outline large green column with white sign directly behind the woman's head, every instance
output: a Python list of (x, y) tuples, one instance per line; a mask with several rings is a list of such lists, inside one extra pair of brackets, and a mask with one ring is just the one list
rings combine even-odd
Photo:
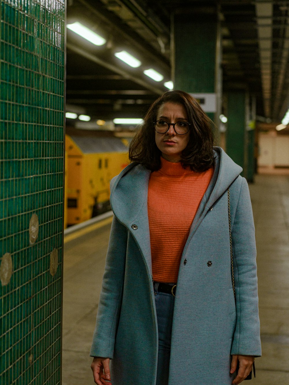
[[(217, 7), (175, 10), (172, 23), (174, 89), (195, 95), (218, 126), (222, 94)], [(212, 107), (213, 105), (213, 107)]]

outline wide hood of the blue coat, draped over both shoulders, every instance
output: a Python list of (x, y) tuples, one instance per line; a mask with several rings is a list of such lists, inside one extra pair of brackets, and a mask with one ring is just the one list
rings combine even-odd
[[(215, 170), (205, 193), (203, 204), (212, 206), (242, 172), (221, 147), (214, 147)], [(111, 180), (111, 208), (126, 226), (147, 213), (148, 181), (151, 171), (133, 162)]]

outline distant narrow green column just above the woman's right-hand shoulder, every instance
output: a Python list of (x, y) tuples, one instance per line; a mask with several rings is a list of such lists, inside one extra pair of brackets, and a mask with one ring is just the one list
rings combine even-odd
[(245, 157), (245, 91), (229, 91), (227, 93), (227, 132), (226, 152), (239, 166), (243, 167), (242, 175), (246, 175)]

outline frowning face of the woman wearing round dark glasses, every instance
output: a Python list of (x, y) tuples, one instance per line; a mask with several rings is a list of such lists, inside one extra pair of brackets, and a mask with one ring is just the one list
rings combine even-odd
[[(167, 123), (188, 122), (185, 107), (182, 104), (166, 102), (158, 110), (156, 120)], [(176, 134), (170, 126), (165, 134), (155, 131), (156, 146), (161, 151), (161, 156), (169, 162), (180, 162), (181, 152), (187, 147), (189, 132), (185, 135)]]

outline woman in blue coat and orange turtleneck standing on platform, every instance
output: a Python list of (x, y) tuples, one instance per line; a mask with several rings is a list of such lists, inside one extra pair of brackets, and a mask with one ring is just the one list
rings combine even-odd
[(151, 105), (129, 156), (134, 162), (111, 181), (94, 382), (239, 384), (261, 355), (254, 223), (242, 168), (213, 147), (212, 122), (182, 91)]

